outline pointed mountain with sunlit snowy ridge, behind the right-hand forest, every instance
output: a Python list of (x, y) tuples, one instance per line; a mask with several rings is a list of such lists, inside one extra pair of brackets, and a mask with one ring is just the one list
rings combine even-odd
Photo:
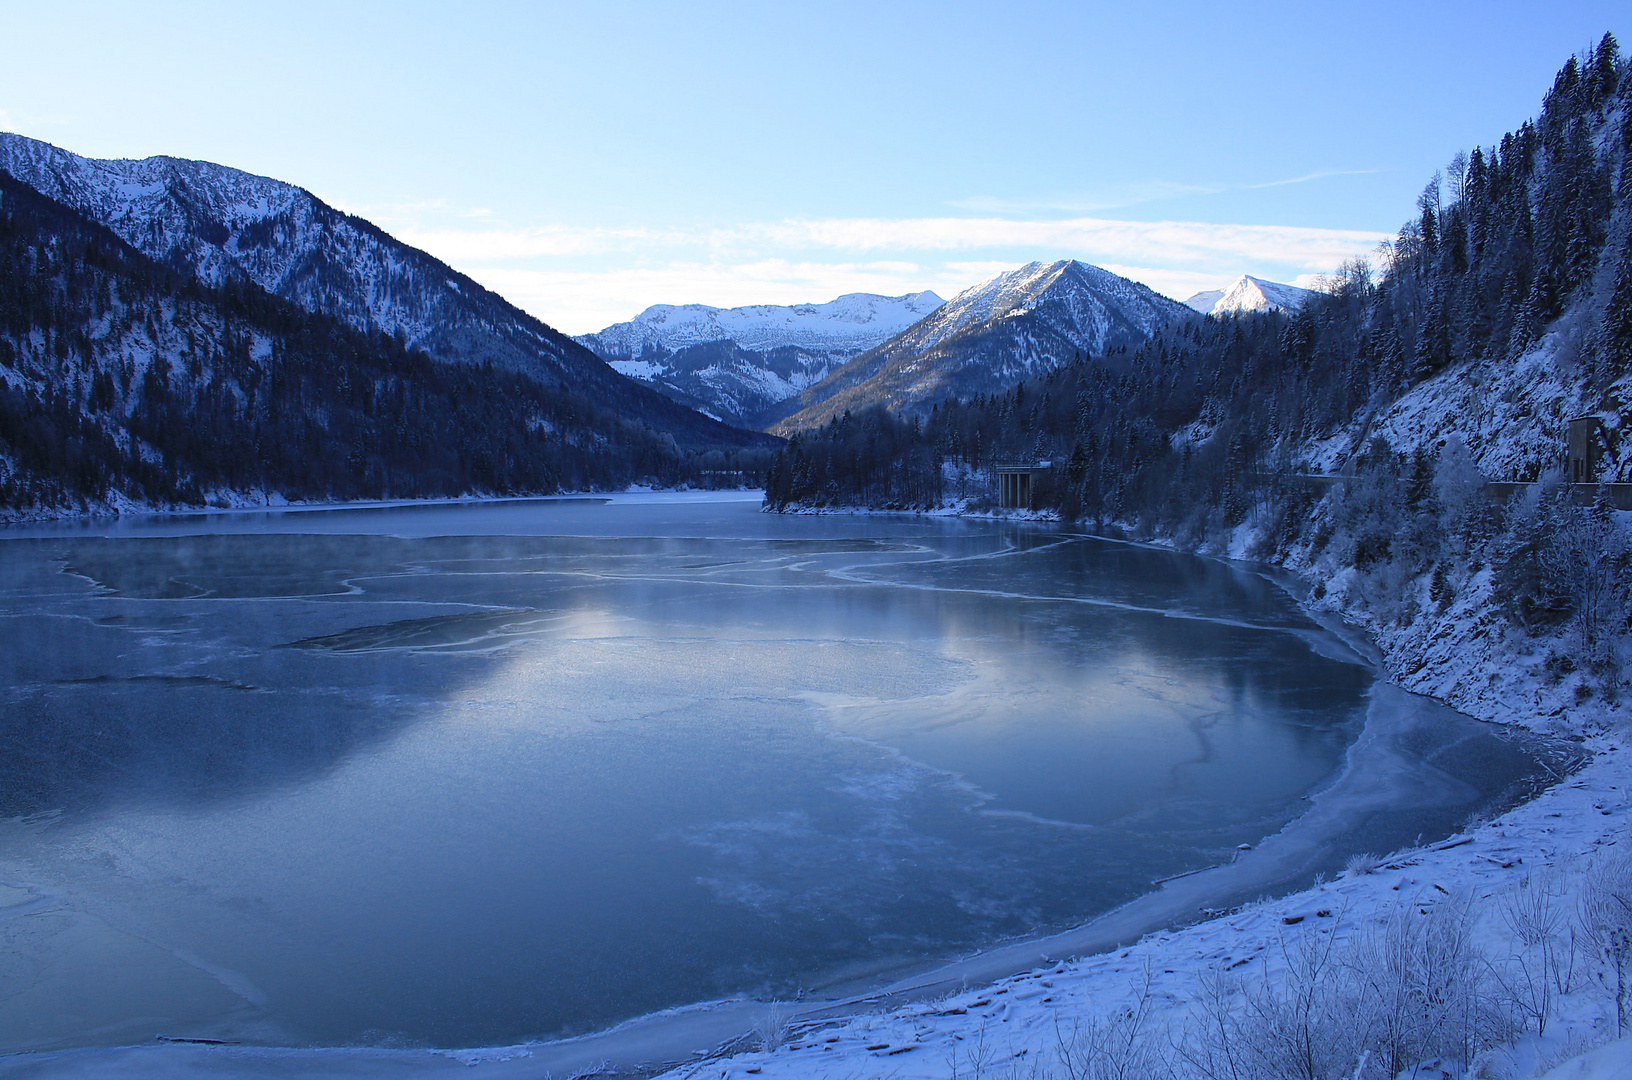
[(778, 432), (885, 405), (1012, 388), (1079, 356), (1138, 344), (1190, 308), (1087, 263), (1028, 263), (965, 289), (927, 318), (783, 403)]

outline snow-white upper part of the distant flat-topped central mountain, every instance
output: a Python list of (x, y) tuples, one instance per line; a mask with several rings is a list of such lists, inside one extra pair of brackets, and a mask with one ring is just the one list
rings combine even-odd
[(744, 349), (865, 352), (942, 305), (934, 292), (881, 297), (850, 292), (827, 303), (756, 303), (718, 308), (707, 303), (654, 303), (633, 320), (578, 338), (602, 357), (636, 357), (650, 346), (666, 351), (705, 341), (734, 341)]

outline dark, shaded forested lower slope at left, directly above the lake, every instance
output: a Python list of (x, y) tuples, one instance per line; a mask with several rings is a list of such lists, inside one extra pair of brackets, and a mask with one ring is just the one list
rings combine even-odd
[(442, 364), (147, 258), (0, 171), (0, 512), (672, 483), (692, 458), (558, 380)]

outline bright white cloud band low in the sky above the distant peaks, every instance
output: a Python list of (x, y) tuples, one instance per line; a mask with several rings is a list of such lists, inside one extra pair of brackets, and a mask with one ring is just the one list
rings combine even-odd
[(1306, 284), (1386, 233), (1291, 225), (1010, 217), (787, 219), (725, 227), (397, 230), (570, 333), (653, 303), (824, 302), (845, 292), (942, 297), (1033, 259), (1077, 258), (1173, 299), (1242, 272)]

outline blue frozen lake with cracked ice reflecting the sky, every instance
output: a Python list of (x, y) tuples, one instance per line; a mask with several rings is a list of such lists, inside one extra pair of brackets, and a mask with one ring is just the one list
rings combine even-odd
[[(1309, 806), (1374, 672), (1276, 587), (757, 494), (0, 532), (0, 1052), (485, 1046), (1059, 930)], [(1449, 832), (1528, 757), (1449, 710)]]

